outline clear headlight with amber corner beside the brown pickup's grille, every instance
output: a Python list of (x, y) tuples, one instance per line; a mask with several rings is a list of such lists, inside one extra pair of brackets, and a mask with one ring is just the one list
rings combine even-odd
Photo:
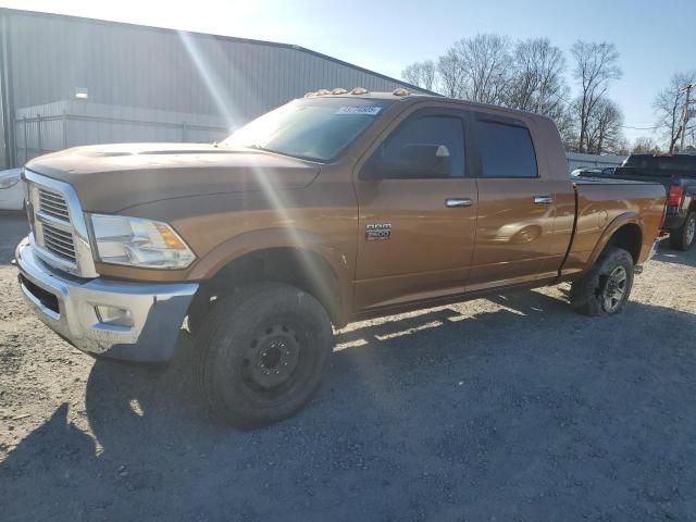
[(98, 261), (151, 269), (185, 269), (196, 256), (166, 223), (88, 214)]

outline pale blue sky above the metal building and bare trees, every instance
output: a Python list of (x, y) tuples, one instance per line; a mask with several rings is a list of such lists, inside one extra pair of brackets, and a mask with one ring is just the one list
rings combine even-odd
[[(547, 37), (566, 53), (573, 92), (572, 44), (609, 41), (623, 70), (609, 95), (626, 127), (652, 127), (657, 92), (673, 73), (696, 69), (693, 0), (0, 0), (0, 7), (295, 44), (394, 77), (477, 33)], [(630, 140), (657, 138), (650, 129), (624, 132)]]

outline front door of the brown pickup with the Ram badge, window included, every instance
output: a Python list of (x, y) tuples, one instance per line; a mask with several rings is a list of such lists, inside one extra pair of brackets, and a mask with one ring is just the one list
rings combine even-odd
[(358, 311), (463, 294), (473, 253), (463, 113), (412, 111), (385, 136), (356, 178)]

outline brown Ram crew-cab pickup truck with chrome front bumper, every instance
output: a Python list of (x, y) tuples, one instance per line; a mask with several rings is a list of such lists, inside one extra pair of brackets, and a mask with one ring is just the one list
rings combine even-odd
[(298, 411), (332, 324), (571, 281), (619, 312), (654, 251), (659, 184), (571, 181), (554, 123), (355, 89), (291, 101), (214, 145), (80, 147), (24, 171), (18, 281), (77, 348), (166, 361), (183, 326), (211, 413)]

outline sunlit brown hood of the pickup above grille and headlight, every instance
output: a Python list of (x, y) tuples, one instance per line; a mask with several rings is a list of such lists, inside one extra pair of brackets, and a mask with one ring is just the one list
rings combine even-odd
[(87, 212), (207, 194), (299, 189), (320, 171), (309, 161), (204, 144), (76, 147), (32, 160), (26, 169), (72, 185)]

